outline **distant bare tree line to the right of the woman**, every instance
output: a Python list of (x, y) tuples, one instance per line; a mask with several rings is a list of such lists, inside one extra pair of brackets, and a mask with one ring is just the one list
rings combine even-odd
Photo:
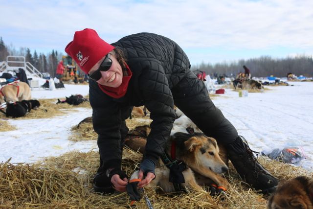
[(241, 59), (231, 63), (201, 63), (191, 66), (191, 70), (201, 70), (209, 75), (236, 76), (239, 72), (245, 72), (243, 66), (250, 69), (251, 76), (267, 77), (274, 75), (277, 77), (286, 77), (287, 73), (292, 72), (295, 75), (313, 76), (312, 56), (299, 55), (296, 57), (287, 57), (282, 59), (273, 59), (270, 56), (262, 56), (244, 60)]

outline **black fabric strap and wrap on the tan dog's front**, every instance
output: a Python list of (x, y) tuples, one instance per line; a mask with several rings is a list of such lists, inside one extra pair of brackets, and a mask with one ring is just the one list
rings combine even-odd
[(185, 192), (186, 189), (183, 186), (181, 186), (181, 184), (185, 183), (182, 171), (184, 171), (187, 168), (187, 165), (182, 161), (176, 160), (175, 155), (176, 155), (176, 143), (175, 141), (173, 141), (171, 144), (171, 156), (169, 156), (167, 152), (164, 151), (161, 156), (161, 160), (166, 165), (166, 167), (170, 169), (169, 182), (173, 183), (176, 192)]

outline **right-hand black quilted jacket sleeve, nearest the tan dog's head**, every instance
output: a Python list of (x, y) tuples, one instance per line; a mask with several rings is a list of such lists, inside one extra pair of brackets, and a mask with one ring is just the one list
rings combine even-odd
[(150, 111), (151, 132), (147, 139), (145, 158), (157, 159), (164, 152), (166, 140), (175, 120), (174, 100), (163, 67), (157, 60), (141, 62), (140, 86), (144, 104)]

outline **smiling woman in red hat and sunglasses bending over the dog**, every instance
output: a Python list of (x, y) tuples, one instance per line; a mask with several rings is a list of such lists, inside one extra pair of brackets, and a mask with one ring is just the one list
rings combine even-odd
[(89, 74), (92, 122), (98, 134), (100, 167), (94, 177), (99, 192), (125, 191), (122, 149), (128, 133), (125, 119), (133, 106), (151, 112), (151, 133), (140, 164), (138, 187), (154, 178), (175, 120), (174, 104), (207, 136), (224, 144), (229, 158), (248, 184), (263, 192), (278, 184), (254, 158), (243, 138), (209, 98), (204, 83), (190, 71), (184, 51), (172, 40), (152, 34), (126, 36), (112, 45), (96, 31), (76, 31), (65, 51)]

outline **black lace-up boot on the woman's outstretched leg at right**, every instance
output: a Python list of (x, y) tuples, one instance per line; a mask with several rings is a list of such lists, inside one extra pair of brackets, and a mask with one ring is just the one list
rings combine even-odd
[(256, 190), (263, 193), (275, 191), (278, 181), (260, 163), (257, 162), (246, 139), (239, 136), (226, 145), (227, 154), (240, 177)]

